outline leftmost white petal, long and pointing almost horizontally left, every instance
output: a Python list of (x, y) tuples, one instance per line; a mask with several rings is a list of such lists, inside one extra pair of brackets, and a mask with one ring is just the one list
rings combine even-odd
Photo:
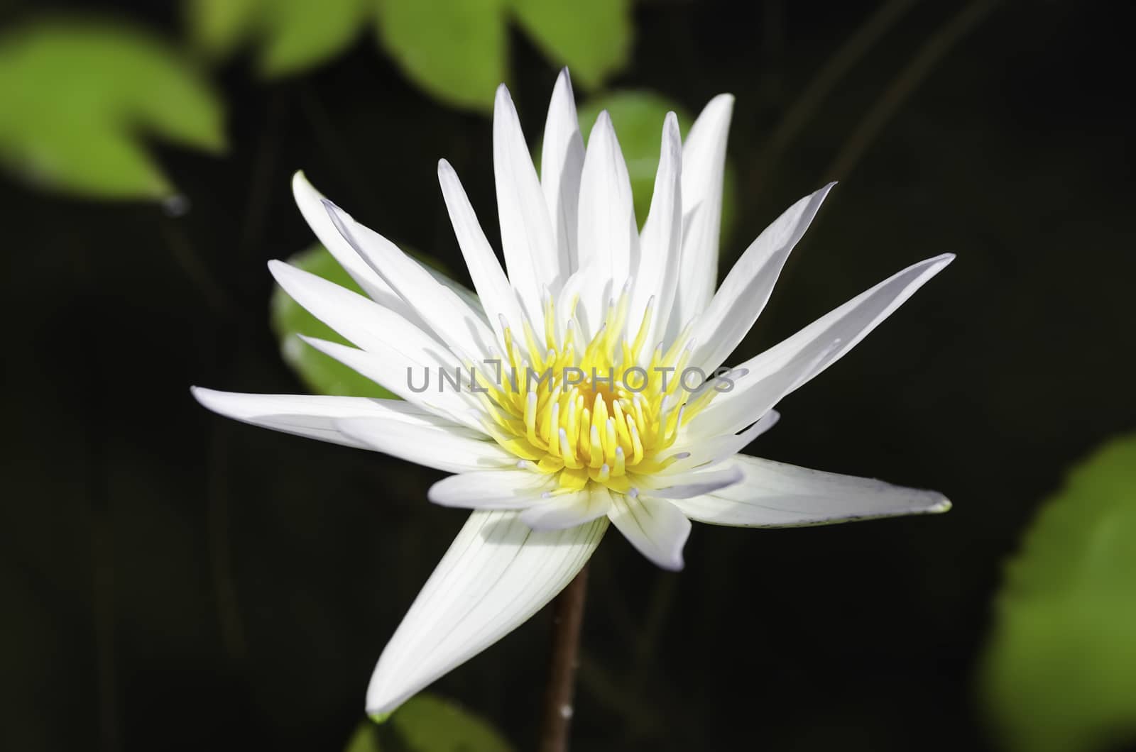
[(438, 418), (403, 400), (310, 394), (240, 394), (200, 386), (194, 386), (190, 391), (198, 402), (218, 415), (345, 446), (366, 448), (364, 443), (346, 436), (335, 427), (335, 420), (339, 418), (369, 417), (400, 420), (442, 431), (466, 431), (456, 423)]

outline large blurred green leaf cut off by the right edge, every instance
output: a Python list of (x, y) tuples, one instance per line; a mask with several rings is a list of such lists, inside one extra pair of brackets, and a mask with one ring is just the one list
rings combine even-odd
[(1027, 532), (996, 607), (984, 688), (1010, 749), (1136, 740), (1136, 436), (1072, 469)]

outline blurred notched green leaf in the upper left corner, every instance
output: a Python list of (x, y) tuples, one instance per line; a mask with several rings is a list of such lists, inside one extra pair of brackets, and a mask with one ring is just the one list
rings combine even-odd
[(0, 162), (35, 184), (108, 199), (174, 192), (142, 145), (154, 134), (225, 148), (223, 106), (159, 39), (44, 20), (0, 37)]

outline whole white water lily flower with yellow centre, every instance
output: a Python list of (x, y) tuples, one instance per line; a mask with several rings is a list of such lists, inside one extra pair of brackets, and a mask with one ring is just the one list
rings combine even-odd
[[(680, 569), (692, 519), (782, 527), (950, 508), (938, 493), (738, 453), (772, 426), (783, 396), (952, 257), (916, 264), (721, 369), (832, 187), (790, 207), (716, 291), (732, 108), (728, 94), (711, 100), (685, 143), (667, 116), (640, 231), (608, 115), (585, 149), (563, 72), (537, 176), (502, 85), (493, 165), (508, 273), (453, 168), (438, 165), (476, 296), (295, 176), (300, 211), (367, 296), (279, 261), (269, 268), (356, 345), (306, 339), (311, 346), (402, 400), (195, 388), (197, 399), (237, 420), (453, 473), (431, 488), (431, 501), (475, 510), (383, 651), (369, 712), (393, 710), (533, 616), (609, 524), (660, 567)], [(717, 377), (703, 383), (700, 374)]]

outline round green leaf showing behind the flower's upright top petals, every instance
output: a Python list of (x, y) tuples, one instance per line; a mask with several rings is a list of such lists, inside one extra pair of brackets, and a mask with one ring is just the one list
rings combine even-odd
[[(667, 112), (678, 116), (678, 128), (686, 137), (694, 118), (680, 106), (650, 91), (616, 91), (590, 99), (579, 107), (579, 127), (585, 139), (595, 125), (600, 112), (608, 110), (619, 136), (619, 148), (627, 161), (635, 199), (635, 217), (640, 225), (646, 220), (654, 193), (654, 174), (659, 169), (659, 147), (662, 141), (662, 122)], [(734, 170), (726, 162), (722, 191), (721, 237), (725, 242), (734, 224)]]

